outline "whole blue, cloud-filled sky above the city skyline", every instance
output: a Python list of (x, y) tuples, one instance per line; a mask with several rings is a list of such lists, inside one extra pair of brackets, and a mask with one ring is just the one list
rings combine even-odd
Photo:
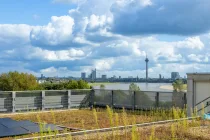
[(210, 72), (209, 0), (1, 0), (0, 73)]

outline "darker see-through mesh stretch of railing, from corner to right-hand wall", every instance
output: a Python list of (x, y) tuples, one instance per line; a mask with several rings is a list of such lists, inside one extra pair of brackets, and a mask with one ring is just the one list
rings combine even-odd
[(184, 108), (186, 93), (162, 91), (94, 90), (94, 106), (128, 109)]

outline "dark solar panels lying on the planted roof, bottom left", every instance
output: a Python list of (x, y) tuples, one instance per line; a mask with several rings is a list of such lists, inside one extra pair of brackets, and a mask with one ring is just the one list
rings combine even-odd
[(0, 137), (24, 135), (40, 131), (47, 132), (49, 130), (63, 130), (63, 128), (53, 124), (45, 124), (42, 126), (42, 130), (40, 130), (39, 124), (33, 123), (31, 121), (15, 121), (10, 118), (0, 118)]

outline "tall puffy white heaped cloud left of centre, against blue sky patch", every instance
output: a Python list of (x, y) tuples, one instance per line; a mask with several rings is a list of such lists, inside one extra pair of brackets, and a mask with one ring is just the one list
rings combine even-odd
[(74, 19), (70, 16), (52, 16), (46, 26), (31, 31), (31, 41), (40, 45), (65, 44), (72, 38)]

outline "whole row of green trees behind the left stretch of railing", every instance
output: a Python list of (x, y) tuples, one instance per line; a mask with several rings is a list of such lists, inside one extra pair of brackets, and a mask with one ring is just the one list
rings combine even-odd
[(90, 89), (91, 87), (83, 80), (69, 80), (66, 82), (45, 82), (39, 84), (37, 78), (28, 73), (17, 71), (2, 73), (0, 75), (0, 90), (2, 91), (25, 91), (25, 90), (64, 90), (64, 89)]

